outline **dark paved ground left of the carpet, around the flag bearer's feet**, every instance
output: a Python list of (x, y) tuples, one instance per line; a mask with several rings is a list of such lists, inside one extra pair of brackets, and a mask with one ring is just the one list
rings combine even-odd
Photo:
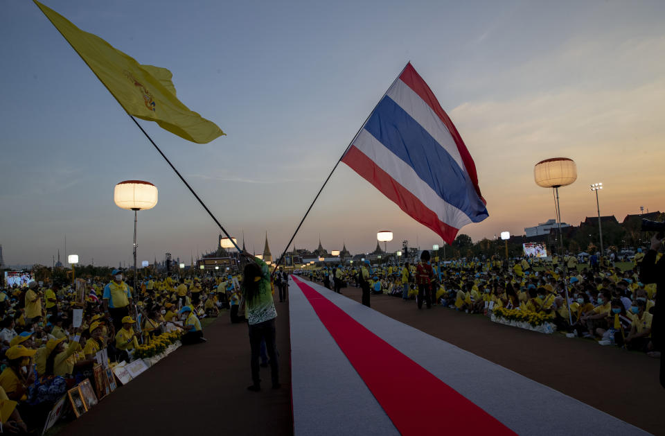
[[(281, 390), (247, 391), (247, 325), (222, 313), (206, 344), (180, 347), (60, 435), (292, 435), (289, 312), (276, 307)], [(270, 369), (261, 372), (269, 387)]]

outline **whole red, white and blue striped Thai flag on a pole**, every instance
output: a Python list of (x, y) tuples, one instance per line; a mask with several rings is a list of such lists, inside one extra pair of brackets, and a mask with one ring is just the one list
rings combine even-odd
[(448, 244), (489, 216), (464, 141), (410, 62), (342, 162)]

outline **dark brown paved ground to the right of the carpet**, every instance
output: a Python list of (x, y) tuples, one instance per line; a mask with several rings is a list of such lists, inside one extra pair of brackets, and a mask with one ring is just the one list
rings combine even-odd
[[(359, 288), (342, 293), (360, 302)], [(657, 359), (590, 340), (543, 335), (413, 300), (373, 295), (384, 315), (470, 351), (655, 435), (665, 435), (665, 390)], [(561, 417), (561, 419), (566, 419)]]

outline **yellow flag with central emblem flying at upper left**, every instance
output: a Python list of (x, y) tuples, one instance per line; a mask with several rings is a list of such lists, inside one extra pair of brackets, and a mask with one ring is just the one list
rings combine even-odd
[(127, 114), (154, 121), (197, 143), (208, 143), (224, 134), (215, 123), (189, 110), (176, 98), (168, 69), (139, 64), (100, 37), (74, 26), (55, 10), (34, 1)]

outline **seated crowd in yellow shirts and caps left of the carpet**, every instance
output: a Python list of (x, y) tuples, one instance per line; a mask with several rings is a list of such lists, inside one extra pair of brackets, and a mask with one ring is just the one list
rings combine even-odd
[(183, 345), (205, 342), (200, 319), (218, 316), (237, 285), (231, 276), (148, 277), (134, 290), (114, 270), (109, 281), (89, 279), (83, 295), (36, 281), (1, 290), (0, 400), (16, 402), (5, 428), (41, 430), (53, 402), (91, 378), (101, 356), (112, 368), (130, 363), (165, 332)]

